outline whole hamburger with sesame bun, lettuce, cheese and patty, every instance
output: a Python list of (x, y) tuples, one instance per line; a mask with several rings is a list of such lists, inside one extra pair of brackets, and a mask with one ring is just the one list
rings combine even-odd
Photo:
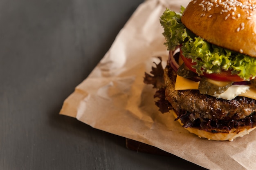
[(256, 1), (191, 0), (160, 17), (169, 51), (145, 73), (162, 113), (199, 137), (233, 141), (256, 128)]

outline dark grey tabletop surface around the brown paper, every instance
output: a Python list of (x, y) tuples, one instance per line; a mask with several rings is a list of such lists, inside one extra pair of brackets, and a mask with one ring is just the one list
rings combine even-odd
[(142, 2), (0, 1), (0, 170), (203, 169), (58, 114)]

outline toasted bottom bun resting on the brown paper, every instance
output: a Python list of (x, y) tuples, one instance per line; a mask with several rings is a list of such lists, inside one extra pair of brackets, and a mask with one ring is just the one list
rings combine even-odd
[[(170, 110), (171, 113), (177, 118), (177, 114), (175, 110)], [(181, 123), (180, 119), (178, 119), (179, 123)], [(254, 130), (256, 127), (249, 127), (249, 126), (241, 126), (238, 129), (233, 128), (229, 132), (225, 130), (225, 132), (222, 132), (221, 130), (214, 129), (214, 133), (211, 131), (206, 130), (199, 130), (198, 128), (184, 128), (188, 130), (189, 132), (198, 135), (200, 138), (206, 138), (208, 140), (215, 140), (215, 141), (233, 141), (237, 137), (243, 137), (246, 134), (249, 134), (252, 130)]]

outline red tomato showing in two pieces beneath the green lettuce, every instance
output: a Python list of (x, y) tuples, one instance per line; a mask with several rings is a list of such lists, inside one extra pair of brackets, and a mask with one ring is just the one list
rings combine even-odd
[[(192, 68), (195, 63), (192, 63), (191, 58), (186, 58), (182, 55), (182, 51), (180, 50), (180, 57), (184, 61), (185, 65), (192, 71), (196, 73), (196, 70)], [(204, 73), (203, 76), (207, 78), (211, 78), (216, 81), (234, 81), (234, 82), (239, 82), (239, 81), (244, 81), (242, 78), (240, 78), (237, 74), (231, 74), (231, 71), (223, 71), (220, 73), (212, 73), (212, 74), (207, 74)]]

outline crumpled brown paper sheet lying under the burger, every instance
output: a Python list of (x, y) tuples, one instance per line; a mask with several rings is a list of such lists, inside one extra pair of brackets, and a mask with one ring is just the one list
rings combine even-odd
[[(60, 114), (126, 137), (211, 170), (254, 169), (256, 131), (229, 141), (190, 134), (155, 106), (154, 89), (143, 83), (157, 56), (167, 60), (159, 17), (166, 7), (180, 11), (189, 0), (146, 0), (119, 32), (97, 67), (64, 101)], [(166, 65), (163, 62), (163, 66)]]

